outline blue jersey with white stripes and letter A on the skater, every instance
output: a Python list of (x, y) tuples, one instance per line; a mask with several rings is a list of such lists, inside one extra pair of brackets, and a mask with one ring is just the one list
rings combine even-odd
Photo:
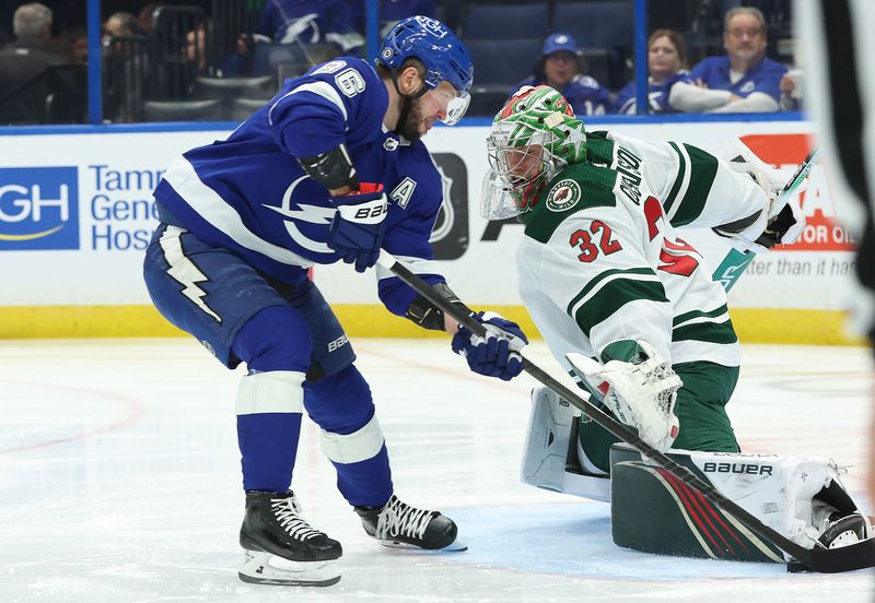
[[(389, 198), (383, 248), (428, 282), (443, 282), (429, 244), (441, 177), (421, 141), (386, 131), (387, 105), (385, 85), (361, 59), (341, 57), (288, 80), (226, 140), (192, 149), (167, 169), (154, 193), (162, 220), (273, 279), (301, 283), (307, 267), (338, 257), (327, 246), (335, 206), (296, 157), (343, 143), (359, 181), (382, 182)], [(416, 293), (390, 273), (377, 275), (381, 299), (404, 316)]]

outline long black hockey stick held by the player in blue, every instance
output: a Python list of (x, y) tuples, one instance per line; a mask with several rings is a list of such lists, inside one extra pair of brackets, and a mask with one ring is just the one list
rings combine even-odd
[[(440, 308), (445, 315), (457, 320), (474, 334), (480, 338), (488, 336), (487, 330), (481, 323), (468, 316), (460, 306), (447, 302), (434, 288), (432, 288), (422, 279), (410, 272), (410, 270), (408, 270), (387, 251), (382, 250), (380, 252), (380, 259), (377, 260), (377, 263), (382, 268), (398, 276), (417, 293), (434, 304), (435, 307)], [(786, 536), (778, 533), (772, 528), (769, 528), (762, 523), (759, 519), (744, 510), (728, 498), (724, 497), (713, 486), (704, 483), (690, 470), (679, 465), (655, 448), (649, 446), (626, 425), (622, 425), (612, 416), (593, 405), (593, 403), (590, 402), (590, 395), (586, 392), (575, 392), (570, 390), (546, 370), (541, 369), (535, 363), (526, 358), (525, 354), (521, 354), (521, 356), (523, 357), (523, 370), (528, 373), (537, 381), (553, 390), (556, 393), (564, 398), (569, 403), (585, 413), (587, 417), (595, 421), (598, 425), (620, 438), (622, 441), (638, 449), (642, 454), (649, 457), (656, 464), (677, 475), (680, 481), (699, 490), (709, 501), (720, 507), (728, 515), (733, 516), (748, 530), (757, 534), (759, 537), (771, 542), (778, 548), (788, 553), (791, 557), (795, 558), (808, 569), (819, 571), (821, 574), (835, 574), (839, 571), (851, 571), (854, 569), (875, 567), (875, 539), (865, 540), (863, 542), (841, 548), (824, 548), (822, 546), (819, 546), (817, 548), (809, 549), (796, 544)]]

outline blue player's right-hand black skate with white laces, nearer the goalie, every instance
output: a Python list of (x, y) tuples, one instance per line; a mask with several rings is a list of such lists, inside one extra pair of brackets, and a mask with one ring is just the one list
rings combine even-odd
[(417, 509), (393, 494), (383, 507), (355, 507), (364, 531), (385, 546), (467, 551), (456, 540), (458, 529), (439, 511)]

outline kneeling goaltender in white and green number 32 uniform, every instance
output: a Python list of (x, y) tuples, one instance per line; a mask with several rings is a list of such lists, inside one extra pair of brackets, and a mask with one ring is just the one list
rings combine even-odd
[[(759, 252), (793, 243), (805, 224), (778, 194), (780, 173), (737, 144), (720, 158), (679, 142), (586, 133), (557, 91), (526, 86), (492, 125), (483, 215), (525, 224), (523, 302), (557, 360), (616, 418), (661, 451), (682, 451), (678, 462), (800, 544), (855, 542), (871, 529), (833, 463), (740, 454), (726, 415), (740, 364), (726, 294), (675, 228), (710, 227)], [(781, 560), (716, 510), (704, 521), (711, 511), (693, 509), (682, 483), (616, 441), (538, 388), (523, 480), (611, 500), (623, 546)], [(644, 500), (660, 512), (637, 512)], [(693, 521), (695, 512), (708, 517)], [(742, 544), (721, 544), (733, 539)]]

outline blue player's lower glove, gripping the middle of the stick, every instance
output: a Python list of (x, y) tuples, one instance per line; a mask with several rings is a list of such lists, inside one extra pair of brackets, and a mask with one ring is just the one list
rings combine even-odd
[(523, 370), (523, 357), (518, 352), (528, 344), (516, 322), (495, 312), (478, 312), (471, 318), (487, 330), (487, 338), (475, 335), (459, 327), (453, 335), (453, 352), (465, 356), (475, 373), (510, 381)]

